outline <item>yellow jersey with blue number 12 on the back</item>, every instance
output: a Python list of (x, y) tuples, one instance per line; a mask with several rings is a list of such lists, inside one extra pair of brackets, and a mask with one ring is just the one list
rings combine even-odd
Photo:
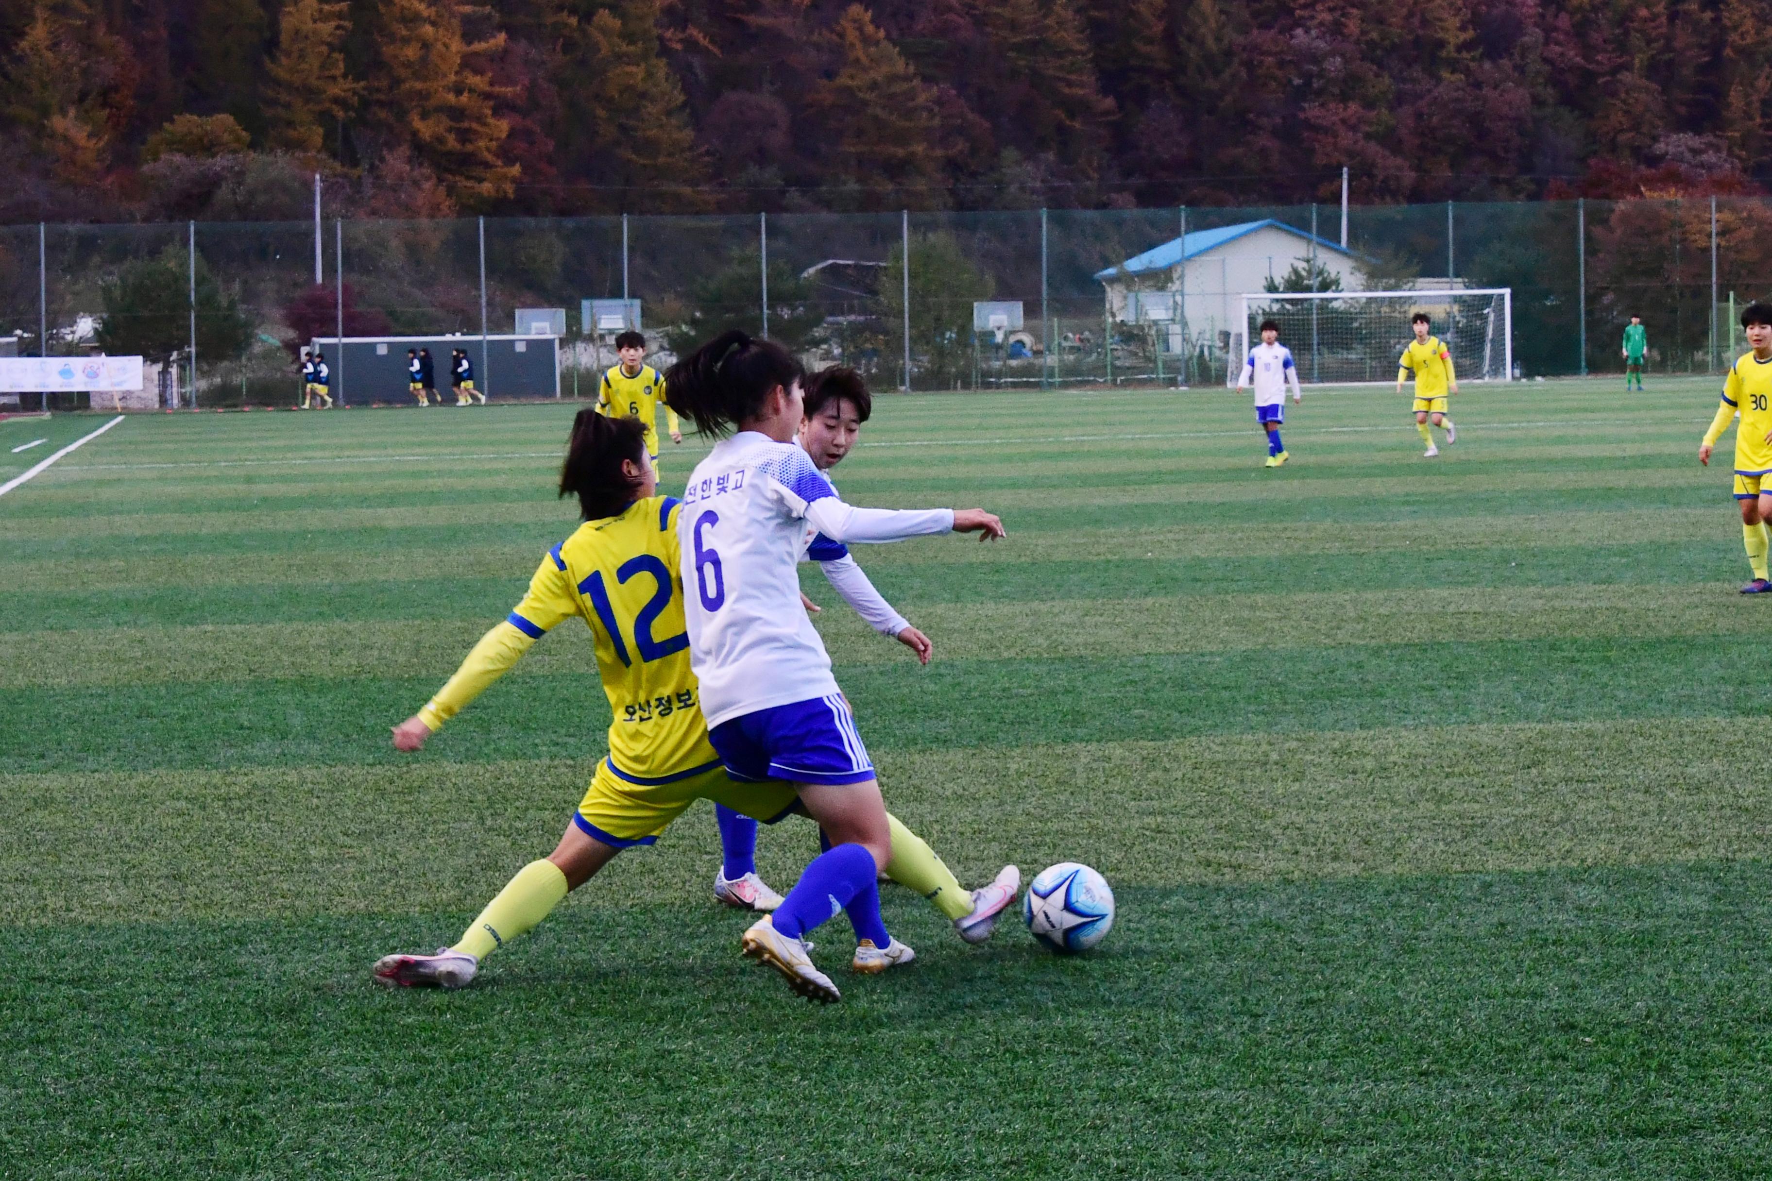
[(650, 496), (587, 521), (548, 551), (523, 602), (420, 710), (425, 724), (438, 729), (544, 632), (578, 616), (590, 627), (610, 699), (611, 770), (659, 783), (718, 765), (689, 668), (677, 512), (675, 498)]

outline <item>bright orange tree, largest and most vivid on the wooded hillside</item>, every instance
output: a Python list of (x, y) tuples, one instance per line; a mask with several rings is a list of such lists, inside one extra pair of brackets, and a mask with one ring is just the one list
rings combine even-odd
[(461, 18), (459, 0), (385, 0), (374, 97), (379, 120), (450, 200), (486, 207), (510, 197), (521, 172), (500, 156), (510, 127), (493, 112), (498, 89), (482, 69), (505, 35), (468, 41)]

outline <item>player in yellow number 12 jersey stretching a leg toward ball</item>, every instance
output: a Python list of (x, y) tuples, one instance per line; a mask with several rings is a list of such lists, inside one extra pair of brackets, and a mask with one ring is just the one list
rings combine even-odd
[[(425, 708), (395, 726), (395, 747), (420, 749), (542, 632), (572, 616), (590, 627), (611, 710), (610, 749), (560, 843), (510, 878), (454, 946), (432, 956), (377, 960), (379, 983), (468, 984), (480, 960), (540, 922), (618, 852), (652, 845), (698, 799), (764, 822), (799, 811), (799, 795), (789, 783), (732, 779), (707, 738), (682, 611), (679, 505), (656, 492), (657, 476), (647, 462), (640, 423), (581, 411), (572, 423), (560, 494), (578, 496), (585, 524), (542, 558), (517, 609), (480, 637)], [(888, 820), (886, 871), (893, 880), (932, 899), (966, 894), (921, 838), (897, 818)], [(980, 942), (1006, 903), (991, 887), (969, 896), (975, 907), (955, 928), (968, 942)], [(882, 972), (911, 960), (909, 947), (888, 938), (886, 947), (865, 940), (851, 963), (858, 972)]]

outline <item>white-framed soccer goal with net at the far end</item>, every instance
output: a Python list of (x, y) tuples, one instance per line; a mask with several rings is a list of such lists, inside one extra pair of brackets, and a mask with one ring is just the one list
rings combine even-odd
[(1260, 324), (1279, 324), (1279, 343), (1292, 351), (1299, 381), (1318, 384), (1391, 384), (1396, 358), (1414, 340), (1411, 319), (1425, 312), (1432, 331), (1451, 351), (1458, 381), (1513, 377), (1513, 289), (1469, 290), (1334, 290), (1247, 292), (1240, 329), (1232, 331), (1230, 372), (1235, 386)]

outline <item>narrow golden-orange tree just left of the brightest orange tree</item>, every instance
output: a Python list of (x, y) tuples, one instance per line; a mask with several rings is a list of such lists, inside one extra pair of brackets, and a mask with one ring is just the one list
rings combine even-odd
[(326, 131), (356, 104), (360, 85), (344, 69), (349, 16), (344, 0), (287, 0), (268, 67), (271, 143), (317, 152)]

